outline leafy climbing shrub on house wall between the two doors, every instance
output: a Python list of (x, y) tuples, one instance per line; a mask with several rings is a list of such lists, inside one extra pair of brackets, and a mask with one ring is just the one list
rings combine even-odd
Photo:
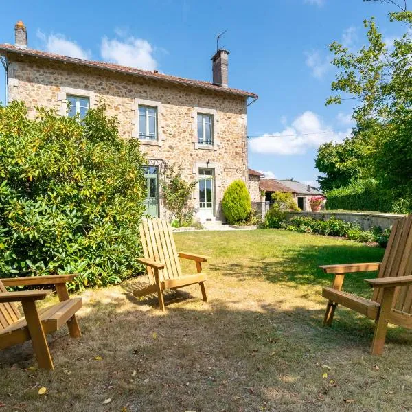
[(192, 196), (196, 181), (185, 181), (181, 174), (181, 167), (178, 167), (176, 170), (174, 168), (168, 170), (166, 179), (161, 183), (165, 205), (178, 221), (178, 226), (174, 227), (190, 226), (193, 220), (193, 207), (190, 207), (187, 201)]

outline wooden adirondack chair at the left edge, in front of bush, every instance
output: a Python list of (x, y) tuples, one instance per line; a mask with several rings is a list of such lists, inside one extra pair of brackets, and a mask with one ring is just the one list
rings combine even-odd
[[(38, 366), (54, 370), (52, 356), (45, 334), (56, 332), (67, 323), (72, 338), (79, 338), (80, 328), (75, 313), (82, 307), (82, 299), (69, 298), (66, 282), (71, 282), (76, 275), (50, 275), (36, 277), (14, 277), (0, 279), (0, 350), (32, 341)], [(8, 292), (5, 286), (28, 286), (54, 284), (60, 303), (37, 310), (36, 300), (45, 299), (52, 290), (27, 290)], [(14, 302), (21, 302), (24, 317)]]

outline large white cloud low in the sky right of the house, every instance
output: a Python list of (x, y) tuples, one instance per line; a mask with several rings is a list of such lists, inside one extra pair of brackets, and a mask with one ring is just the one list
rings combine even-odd
[(252, 152), (262, 155), (301, 155), (327, 141), (343, 141), (351, 129), (336, 132), (312, 111), (296, 117), (290, 126), (276, 133), (265, 133), (249, 141)]

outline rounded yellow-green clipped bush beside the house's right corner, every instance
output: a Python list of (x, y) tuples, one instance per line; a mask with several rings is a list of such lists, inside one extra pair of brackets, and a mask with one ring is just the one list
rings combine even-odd
[(222, 198), (223, 214), (227, 222), (234, 224), (246, 220), (251, 213), (251, 196), (244, 181), (233, 181)]

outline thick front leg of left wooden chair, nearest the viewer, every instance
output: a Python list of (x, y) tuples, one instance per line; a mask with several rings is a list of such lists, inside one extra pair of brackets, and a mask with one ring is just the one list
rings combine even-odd
[(34, 301), (23, 301), (22, 306), (38, 367), (54, 371), (52, 356), (50, 356), (49, 345), (47, 345), (46, 335), (38, 317), (36, 304)]

